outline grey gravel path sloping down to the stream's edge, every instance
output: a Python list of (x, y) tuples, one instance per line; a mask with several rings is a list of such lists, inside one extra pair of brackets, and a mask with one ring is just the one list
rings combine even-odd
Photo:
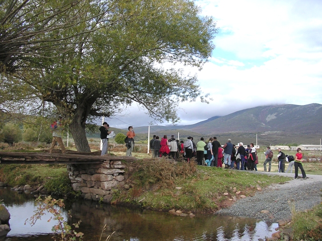
[[(294, 179), (294, 173), (256, 172), (259, 175), (283, 175), (293, 177), (284, 184), (273, 184), (253, 197), (237, 200), (231, 207), (216, 212), (221, 215), (248, 216), (277, 222), (291, 217), (291, 205), (296, 211), (311, 209), (321, 203), (321, 175), (307, 175), (308, 179)], [(299, 172), (300, 174), (300, 172)], [(261, 213), (269, 210), (269, 213)]]

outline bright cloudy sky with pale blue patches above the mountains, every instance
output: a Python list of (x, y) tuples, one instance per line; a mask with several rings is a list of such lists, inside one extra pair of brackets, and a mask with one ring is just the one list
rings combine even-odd
[[(322, 104), (322, 1), (198, 0), (202, 15), (212, 16), (216, 48), (198, 76), (209, 104), (180, 104), (180, 123), (262, 105)], [(148, 126), (153, 119), (137, 104), (113, 118), (110, 127)], [(162, 123), (157, 125), (172, 125)], [(154, 123), (154, 125), (156, 125)]]

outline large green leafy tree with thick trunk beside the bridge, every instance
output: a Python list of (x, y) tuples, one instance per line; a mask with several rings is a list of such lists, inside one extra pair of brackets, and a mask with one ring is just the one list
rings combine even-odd
[[(57, 7), (37, 28), (51, 29), (26, 40), (30, 50), (18, 60), (8, 64), (0, 55), (0, 61), (29, 96), (53, 103), (69, 120), (78, 151), (90, 152), (85, 127), (92, 117), (137, 102), (154, 118), (176, 122), (179, 101), (204, 100), (195, 76), (162, 67), (201, 67), (214, 49), (215, 24), (193, 1), (66, 0), (63, 11), (47, 1), (46, 11)], [(29, 11), (46, 18), (44, 10)]]

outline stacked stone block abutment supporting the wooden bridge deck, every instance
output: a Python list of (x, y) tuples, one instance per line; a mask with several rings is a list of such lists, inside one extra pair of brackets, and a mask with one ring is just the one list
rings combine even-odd
[(128, 174), (125, 162), (104, 161), (102, 164), (70, 164), (67, 166), (69, 179), (75, 191), (82, 191), (86, 200), (110, 203), (113, 190), (127, 188)]

